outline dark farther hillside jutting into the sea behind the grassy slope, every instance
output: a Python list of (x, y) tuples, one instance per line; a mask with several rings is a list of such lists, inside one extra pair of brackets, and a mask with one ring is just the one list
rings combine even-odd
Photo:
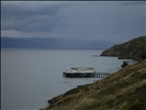
[(117, 56), (119, 58), (138, 59), (146, 57), (146, 36), (139, 36), (126, 43), (114, 45), (104, 51), (101, 56)]

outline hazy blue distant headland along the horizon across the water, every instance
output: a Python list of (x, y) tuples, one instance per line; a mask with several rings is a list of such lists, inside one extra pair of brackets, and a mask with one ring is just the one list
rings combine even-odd
[(38, 50), (105, 50), (114, 45), (108, 41), (88, 41), (59, 37), (1, 37), (3, 48)]

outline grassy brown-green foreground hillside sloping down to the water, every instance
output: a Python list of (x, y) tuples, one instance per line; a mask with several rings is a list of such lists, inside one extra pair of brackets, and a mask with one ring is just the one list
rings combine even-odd
[(49, 102), (41, 110), (146, 110), (146, 59)]

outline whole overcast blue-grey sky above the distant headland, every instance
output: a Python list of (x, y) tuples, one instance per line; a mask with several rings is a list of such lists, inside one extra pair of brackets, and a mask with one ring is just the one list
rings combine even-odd
[(141, 35), (145, 1), (1, 2), (1, 36), (125, 42)]

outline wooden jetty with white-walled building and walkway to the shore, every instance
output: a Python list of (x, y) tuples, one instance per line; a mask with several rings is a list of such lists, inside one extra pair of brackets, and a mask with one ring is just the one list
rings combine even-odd
[(104, 78), (111, 75), (111, 73), (97, 73), (91, 67), (72, 67), (69, 70), (63, 72), (64, 77), (69, 78), (82, 78), (82, 77), (96, 77)]

